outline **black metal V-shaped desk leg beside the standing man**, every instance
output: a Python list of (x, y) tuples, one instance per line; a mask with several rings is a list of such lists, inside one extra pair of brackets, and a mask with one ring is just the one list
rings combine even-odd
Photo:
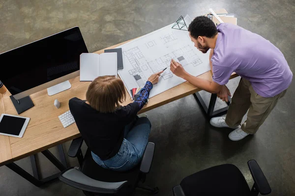
[(206, 106), (206, 104), (205, 104), (203, 98), (201, 97), (201, 95), (199, 94), (199, 92), (195, 93), (194, 97), (197, 99), (197, 102), (203, 108), (203, 110), (208, 118), (212, 118), (212, 117), (221, 116), (223, 114), (226, 114), (227, 110), (229, 109), (229, 105), (232, 101), (232, 99), (229, 97), (229, 102), (227, 102), (228, 106), (214, 111), (214, 107), (215, 107), (215, 103), (216, 103), (216, 99), (217, 99), (216, 94), (211, 94), (211, 98), (210, 98), (210, 102), (209, 102), (208, 107)]

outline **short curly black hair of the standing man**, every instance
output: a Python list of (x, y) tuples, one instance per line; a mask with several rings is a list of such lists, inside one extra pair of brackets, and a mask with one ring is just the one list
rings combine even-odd
[(212, 38), (218, 33), (218, 30), (213, 21), (211, 21), (206, 16), (196, 17), (188, 26), (188, 31), (195, 39), (198, 39), (199, 36)]

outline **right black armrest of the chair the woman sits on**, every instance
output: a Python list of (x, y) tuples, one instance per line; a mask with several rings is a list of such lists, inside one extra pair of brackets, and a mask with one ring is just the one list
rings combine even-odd
[(144, 153), (141, 165), (140, 165), (140, 171), (141, 172), (143, 172), (143, 173), (148, 173), (149, 172), (151, 162), (152, 162), (152, 159), (153, 159), (154, 151), (155, 151), (155, 144), (149, 142), (147, 147), (146, 147), (146, 150), (145, 150), (145, 153)]

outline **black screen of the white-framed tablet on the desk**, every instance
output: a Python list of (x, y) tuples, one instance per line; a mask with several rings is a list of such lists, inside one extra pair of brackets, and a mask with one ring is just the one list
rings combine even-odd
[(18, 136), (26, 119), (11, 116), (3, 116), (0, 122), (0, 132)]

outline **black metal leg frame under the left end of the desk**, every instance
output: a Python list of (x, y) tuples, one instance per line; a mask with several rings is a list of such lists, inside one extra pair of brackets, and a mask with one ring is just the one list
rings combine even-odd
[[(42, 154), (44, 154), (45, 157), (48, 158), (50, 160), (50, 162), (52, 162), (60, 171), (63, 171), (66, 169), (66, 163), (65, 163), (64, 154), (61, 154), (61, 152), (63, 152), (62, 147), (61, 147), (61, 145), (59, 145), (59, 146), (58, 146), (59, 147), (59, 156), (60, 156), (60, 159), (62, 160), (63, 163), (61, 163), (48, 149), (42, 151)], [(51, 176), (48, 176), (46, 178), (40, 179), (40, 174), (38, 172), (38, 167), (37, 167), (35, 158), (36, 158), (35, 154), (30, 156), (33, 176), (31, 174), (29, 174), (28, 172), (26, 172), (25, 170), (23, 170), (18, 165), (16, 165), (15, 163), (8, 163), (8, 164), (6, 164), (6, 167), (8, 167), (12, 171), (16, 172), (17, 174), (19, 174), (20, 176), (22, 176), (23, 178), (25, 178), (26, 180), (28, 180), (30, 183), (32, 183), (33, 185), (35, 185), (37, 187), (43, 185), (44, 183), (50, 182), (54, 179), (57, 179), (59, 177), (60, 172), (53, 174)]]

